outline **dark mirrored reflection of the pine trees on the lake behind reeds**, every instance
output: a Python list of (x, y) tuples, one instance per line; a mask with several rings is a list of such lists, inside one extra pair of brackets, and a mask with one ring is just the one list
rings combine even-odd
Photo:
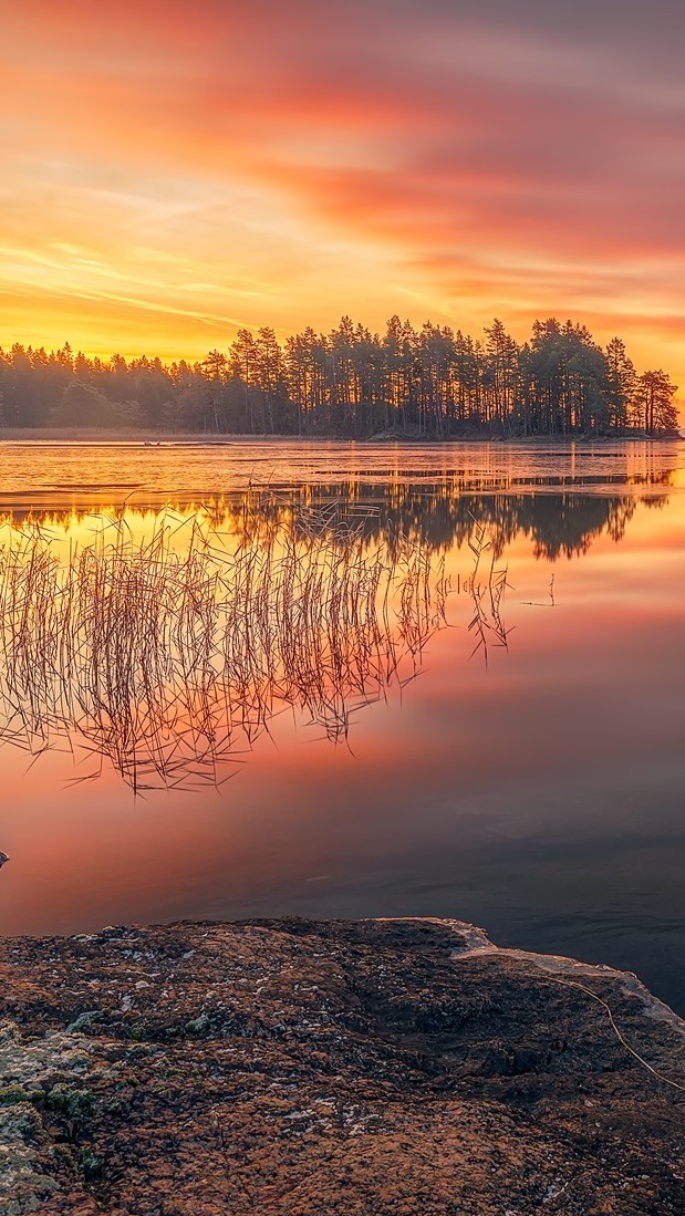
[[(235, 494), (186, 491), (161, 496), (144, 489), (64, 486), (16, 500), (0, 495), (0, 517), (17, 525), (41, 522), (68, 527), (94, 511), (128, 518), (151, 516), (164, 506), (202, 512), (217, 529), (236, 530), (249, 513), (264, 530), (292, 527), (333, 535), (354, 528), (370, 544), (391, 548), (398, 536), (410, 544), (447, 552), (467, 545), (475, 527), (488, 525), (499, 557), (518, 536), (529, 537), (535, 557), (556, 561), (586, 553), (602, 534), (619, 541), (640, 506), (658, 510), (668, 502), (675, 472), (651, 469), (623, 475), (546, 475), (526, 479), (475, 478), (456, 473), (442, 480), (412, 482), (406, 474), (386, 483), (363, 479), (296, 482), (281, 488), (251, 485)], [(586, 492), (595, 488), (601, 492)], [(565, 486), (563, 490), (561, 488)], [(128, 490), (128, 492), (125, 492)], [(64, 503), (67, 497), (68, 505)]]

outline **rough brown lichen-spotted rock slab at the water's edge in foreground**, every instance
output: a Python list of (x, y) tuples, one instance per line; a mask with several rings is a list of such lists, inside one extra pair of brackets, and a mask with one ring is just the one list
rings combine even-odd
[(685, 1024), (451, 921), (0, 941), (4, 1216), (685, 1211)]

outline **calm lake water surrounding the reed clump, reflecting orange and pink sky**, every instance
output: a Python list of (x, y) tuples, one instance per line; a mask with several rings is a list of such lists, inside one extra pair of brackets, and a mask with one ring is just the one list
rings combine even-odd
[[(134, 799), (108, 761), (74, 784), (78, 750), (6, 744), (2, 931), (455, 916), (685, 1012), (685, 444), (0, 447), (0, 512), (62, 548), (124, 503), (137, 533), (165, 502), (229, 529), (248, 490), (264, 518), (326, 506), (369, 551), (402, 525), (444, 556), (449, 627), (347, 745), (276, 714), (219, 790)], [(494, 558), (507, 581), (499, 636), (482, 601), (487, 655), (478, 529), (481, 576)]]

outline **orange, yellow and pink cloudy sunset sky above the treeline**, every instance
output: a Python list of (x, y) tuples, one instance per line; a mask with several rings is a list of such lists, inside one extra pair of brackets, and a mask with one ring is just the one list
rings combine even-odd
[(556, 315), (685, 400), (684, 49), (667, 0), (0, 0), (0, 345)]

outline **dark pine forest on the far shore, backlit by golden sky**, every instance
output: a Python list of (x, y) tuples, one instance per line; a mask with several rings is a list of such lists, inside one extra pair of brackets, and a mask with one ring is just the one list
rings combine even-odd
[(86, 358), (69, 344), (0, 348), (1, 428), (416, 438), (668, 434), (676, 385), (639, 373), (621, 338), (535, 321), (520, 344), (501, 321), (461, 330), (393, 316), (383, 334), (344, 316), (280, 343), (240, 330), (225, 351), (164, 364)]

